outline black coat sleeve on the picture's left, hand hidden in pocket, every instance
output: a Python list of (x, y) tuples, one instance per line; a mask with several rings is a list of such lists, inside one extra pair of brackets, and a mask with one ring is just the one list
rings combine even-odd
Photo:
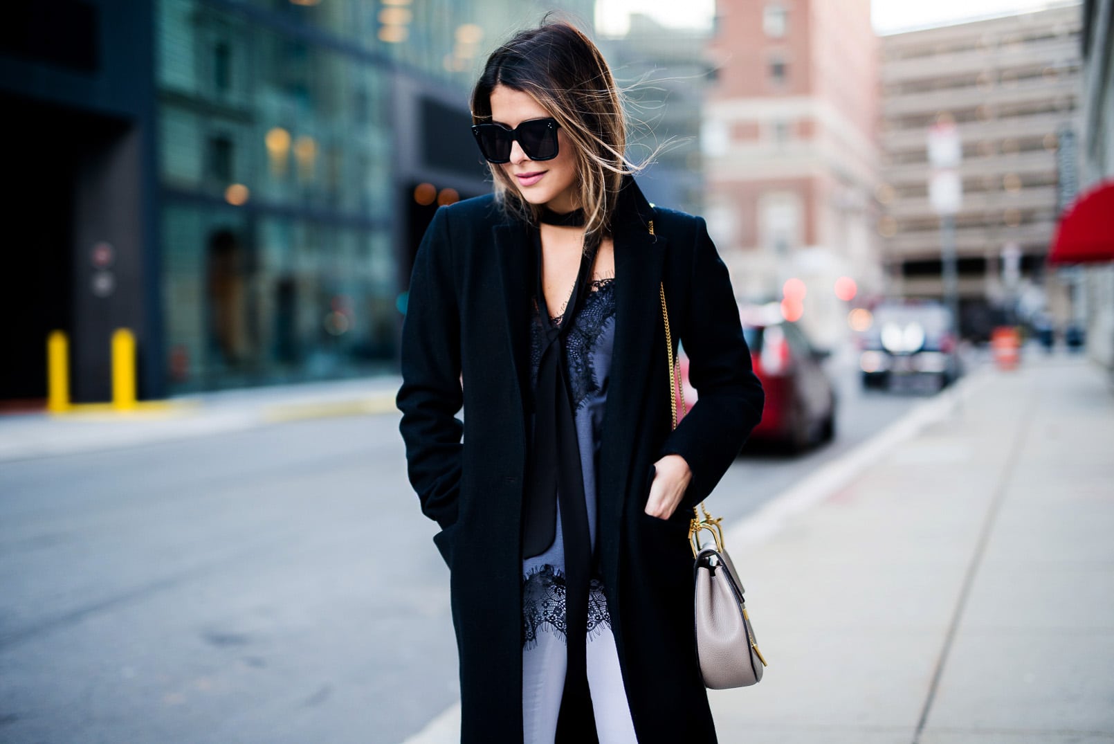
[(448, 215), (433, 215), (410, 276), (402, 324), (402, 386), (395, 403), (407, 448), (407, 472), (422, 512), (442, 529), (457, 520), (465, 424), (460, 383), (460, 321)]

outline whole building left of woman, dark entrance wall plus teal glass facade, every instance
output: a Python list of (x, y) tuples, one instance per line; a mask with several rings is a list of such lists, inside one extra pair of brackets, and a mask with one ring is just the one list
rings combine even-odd
[[(8, 174), (0, 408), (77, 402), (130, 329), (140, 398), (393, 371), (418, 242), (487, 193), (486, 55), (592, 0), (42, 0), (0, 35)], [(47, 215), (43, 219), (35, 215)], [(26, 247), (25, 247), (26, 246)], [(36, 403), (38, 401), (38, 403)]]

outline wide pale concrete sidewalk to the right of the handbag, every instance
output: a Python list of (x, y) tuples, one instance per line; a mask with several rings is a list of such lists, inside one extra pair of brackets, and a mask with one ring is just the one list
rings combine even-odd
[(770, 662), (721, 742), (1114, 742), (1114, 392), (1027, 356), (727, 546)]

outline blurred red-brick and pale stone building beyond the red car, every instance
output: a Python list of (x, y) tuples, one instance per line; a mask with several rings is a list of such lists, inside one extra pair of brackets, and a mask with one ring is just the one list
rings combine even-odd
[(721, 0), (704, 108), (710, 229), (749, 301), (808, 287), (802, 323), (846, 331), (832, 285), (880, 290), (877, 37), (869, 0)]

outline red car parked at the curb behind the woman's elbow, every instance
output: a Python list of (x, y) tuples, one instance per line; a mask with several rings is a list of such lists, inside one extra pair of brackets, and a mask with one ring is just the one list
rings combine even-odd
[[(809, 342), (797, 323), (766, 309), (741, 313), (743, 335), (754, 373), (762, 381), (765, 405), (752, 441), (775, 443), (800, 452), (836, 434), (836, 392), (821, 366), (828, 352)], [(696, 401), (688, 382), (688, 358), (681, 356), (685, 403)]]

